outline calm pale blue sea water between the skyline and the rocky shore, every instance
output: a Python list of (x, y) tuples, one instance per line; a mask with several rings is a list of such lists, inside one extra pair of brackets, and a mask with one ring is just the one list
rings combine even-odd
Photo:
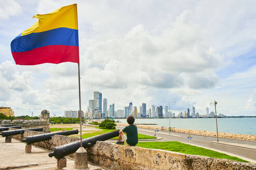
[[(126, 119), (115, 119), (127, 123)], [(181, 129), (204, 130), (216, 132), (215, 118), (175, 118), (175, 119), (135, 119), (134, 123), (155, 123), (152, 126), (169, 126)], [(256, 135), (256, 118), (218, 118), (218, 131), (225, 133), (237, 133)]]

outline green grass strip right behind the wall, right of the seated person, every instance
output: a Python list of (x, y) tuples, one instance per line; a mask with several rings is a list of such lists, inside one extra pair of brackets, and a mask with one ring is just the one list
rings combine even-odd
[(215, 152), (213, 150), (200, 148), (192, 145), (186, 145), (178, 141), (139, 142), (136, 146), (139, 146), (142, 148), (150, 148), (150, 149), (163, 149), (163, 150), (169, 150), (169, 151), (186, 153), (186, 154), (196, 154), (196, 155), (201, 155), (201, 156), (211, 157), (211, 158), (222, 158), (222, 159), (230, 159), (230, 160), (235, 160), (240, 162), (248, 162), (237, 157), (231, 157), (230, 155), (227, 155), (224, 153)]

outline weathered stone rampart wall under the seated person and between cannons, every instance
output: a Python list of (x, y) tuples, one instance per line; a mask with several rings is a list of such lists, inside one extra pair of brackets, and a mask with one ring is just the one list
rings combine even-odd
[[(10, 129), (12, 130), (12, 129)], [(26, 136), (44, 134), (43, 132), (25, 131), (22, 135), (14, 135), (12, 138), (24, 139)], [(56, 146), (79, 140), (79, 137), (55, 135), (51, 140), (34, 143), (33, 145), (48, 150)], [(24, 148), (25, 149), (25, 148)], [(33, 152), (33, 149), (32, 149)], [(183, 154), (158, 149), (146, 149), (134, 146), (116, 145), (106, 141), (97, 141), (96, 145), (87, 148), (88, 160), (111, 170), (210, 170), (210, 169), (241, 169), (256, 170), (256, 164), (236, 162), (226, 159), (202, 157), (198, 155)], [(69, 155), (74, 158), (74, 154)]]

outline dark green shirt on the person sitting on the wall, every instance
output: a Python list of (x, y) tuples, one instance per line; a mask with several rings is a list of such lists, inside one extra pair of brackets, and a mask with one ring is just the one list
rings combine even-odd
[(138, 130), (136, 125), (131, 124), (129, 126), (126, 126), (123, 129), (123, 132), (127, 133), (127, 144), (135, 146), (138, 143)]

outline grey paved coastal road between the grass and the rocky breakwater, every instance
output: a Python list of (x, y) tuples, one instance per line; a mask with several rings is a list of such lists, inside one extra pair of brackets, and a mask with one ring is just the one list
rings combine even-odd
[[(122, 126), (117, 126), (117, 128), (118, 127), (120, 127), (120, 129), (123, 128)], [(147, 129), (145, 130), (145, 129), (141, 129), (141, 128), (138, 128), (138, 132), (143, 133), (143, 134), (149, 134), (149, 135), (155, 134), (155, 131), (153, 131), (153, 130), (147, 130)], [(161, 134), (159, 134), (159, 133), (161, 133)], [(212, 149), (215, 151), (221, 151), (222, 153), (226, 153), (229, 155), (238, 155), (239, 158), (241, 158), (241, 159), (245, 159), (250, 162), (256, 163), (256, 150), (255, 149), (248, 149), (248, 148), (241, 148), (238, 146), (229, 146), (229, 145), (212, 143), (212, 141), (217, 140), (216, 137), (192, 135), (193, 138), (191, 141), (189, 141), (187, 139), (187, 137), (188, 137), (187, 134), (170, 132), (170, 135), (182, 136), (182, 137), (175, 137), (175, 136), (170, 136), (169, 132), (160, 131), (159, 133), (157, 134), (157, 136), (162, 137), (163, 139), (160, 139), (157, 141), (180, 141), (182, 143), (190, 143), (191, 145), (209, 148), (209, 149)], [(256, 142), (253, 142), (253, 141), (243, 141), (243, 140), (224, 139), (224, 138), (219, 138), (219, 140), (225, 141), (228, 143), (246, 144), (246, 145), (256, 146)]]

